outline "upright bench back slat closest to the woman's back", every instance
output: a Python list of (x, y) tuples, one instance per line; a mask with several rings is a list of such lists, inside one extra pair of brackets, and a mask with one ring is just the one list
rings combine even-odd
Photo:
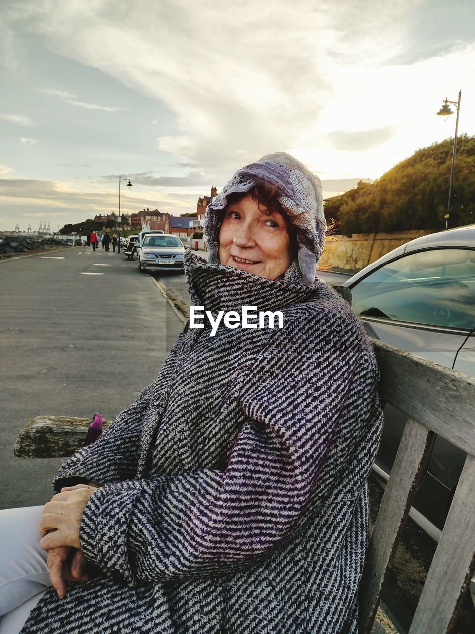
[[(384, 491), (366, 555), (360, 592), (360, 632), (369, 634), (431, 441), (427, 427), (409, 418)], [(421, 630), (422, 631), (422, 630)]]

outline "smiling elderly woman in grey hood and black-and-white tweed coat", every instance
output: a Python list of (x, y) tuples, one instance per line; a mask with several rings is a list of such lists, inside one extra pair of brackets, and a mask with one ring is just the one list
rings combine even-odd
[(315, 279), (319, 181), (267, 155), (205, 232), (209, 261), (186, 254), (193, 304), (281, 311), (282, 327), (187, 325), (156, 382), (63, 464), (39, 522), (53, 587), (24, 634), (357, 632), (382, 411), (364, 330)]

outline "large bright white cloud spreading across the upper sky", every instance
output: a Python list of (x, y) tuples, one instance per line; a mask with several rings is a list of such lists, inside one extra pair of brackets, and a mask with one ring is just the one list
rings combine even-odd
[[(27, 28), (59, 55), (165, 104), (174, 131), (159, 136), (158, 148), (185, 164), (217, 164), (213, 179), (224, 181), (244, 162), (284, 149), (324, 177), (361, 170), (377, 177), (436, 140), (434, 101), (473, 75), (475, 46), (466, 34), (431, 48), (422, 19), (418, 31), (408, 19), (430, 10), (428, 0), (322, 0), (318, 8), (313, 0), (218, 8), (214, 0), (136, 0), (134, 11), (118, 0), (95, 0), (87, 11), (80, 3), (23, 0), (8, 17), (25, 11)], [(205, 46), (199, 34), (218, 22)], [(415, 37), (424, 39), (419, 61), (398, 61)], [(466, 91), (475, 98), (475, 89)], [(80, 107), (115, 108), (49, 93)], [(475, 125), (469, 110), (465, 117)]]

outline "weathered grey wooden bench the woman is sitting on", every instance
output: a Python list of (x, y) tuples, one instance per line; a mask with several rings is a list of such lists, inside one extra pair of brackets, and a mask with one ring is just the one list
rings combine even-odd
[[(389, 344), (372, 342), (381, 372), (381, 401), (410, 418), (369, 543), (360, 592), (360, 634), (372, 628), (434, 434), (466, 451), (467, 459), (410, 634), (445, 634), (455, 626), (475, 564), (475, 379)], [(86, 418), (33, 418), (18, 436), (15, 455), (72, 455), (84, 443), (89, 422)]]

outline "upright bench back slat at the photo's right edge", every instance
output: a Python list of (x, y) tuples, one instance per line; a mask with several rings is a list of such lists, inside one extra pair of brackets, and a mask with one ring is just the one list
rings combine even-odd
[(409, 634), (446, 634), (475, 564), (475, 458), (467, 456)]

